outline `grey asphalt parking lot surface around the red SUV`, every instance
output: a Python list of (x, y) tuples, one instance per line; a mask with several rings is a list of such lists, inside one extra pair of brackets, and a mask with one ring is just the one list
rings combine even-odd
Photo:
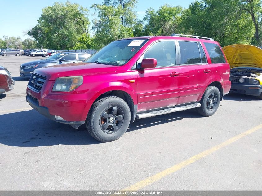
[(262, 190), (262, 100), (228, 94), (211, 117), (140, 119), (100, 143), (30, 108), (19, 67), (36, 59), (0, 56), (16, 82), (0, 95), (0, 190)]

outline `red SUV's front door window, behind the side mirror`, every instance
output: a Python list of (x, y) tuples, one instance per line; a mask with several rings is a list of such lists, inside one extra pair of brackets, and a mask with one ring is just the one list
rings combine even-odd
[[(143, 59), (157, 59), (157, 67), (175, 66), (175, 41), (160, 41), (151, 46)], [(141, 62), (139, 62), (141, 63)]]

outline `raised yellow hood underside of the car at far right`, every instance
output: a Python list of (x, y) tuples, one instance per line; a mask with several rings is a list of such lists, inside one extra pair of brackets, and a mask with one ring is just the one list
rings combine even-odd
[(262, 49), (246, 44), (234, 44), (223, 48), (230, 68), (256, 67), (262, 68)]

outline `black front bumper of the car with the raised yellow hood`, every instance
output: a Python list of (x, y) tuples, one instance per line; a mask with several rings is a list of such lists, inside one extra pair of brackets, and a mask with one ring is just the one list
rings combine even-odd
[[(257, 88), (257, 89), (250, 89)], [(239, 93), (253, 96), (260, 96), (262, 92), (262, 85), (245, 85), (241, 83), (232, 83), (231, 84), (231, 93)]]

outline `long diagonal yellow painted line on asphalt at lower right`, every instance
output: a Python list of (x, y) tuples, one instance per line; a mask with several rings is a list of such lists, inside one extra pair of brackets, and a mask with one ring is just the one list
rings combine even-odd
[(153, 176), (150, 176), (140, 182), (137, 182), (135, 183), (134, 185), (131, 185), (129, 187), (127, 187), (126, 189), (124, 190), (139, 190), (139, 189), (142, 189), (144, 188), (145, 186), (148, 186), (150, 184), (152, 184), (153, 182), (155, 181), (158, 181), (160, 179), (162, 179), (163, 177), (171, 174), (171, 173), (174, 173), (178, 170), (180, 170), (181, 168), (184, 168), (185, 166), (191, 164), (191, 163), (194, 163), (195, 161), (199, 160), (199, 159), (202, 159), (203, 157), (207, 156), (207, 155), (210, 155), (211, 153), (219, 150), (220, 148), (223, 148), (233, 142), (236, 142), (237, 140), (243, 138), (243, 137), (246, 137), (247, 135), (259, 130), (260, 128), (262, 128), (262, 124), (254, 127), (254, 128), (251, 128), (243, 133), (240, 133), (239, 135), (235, 136), (235, 137), (232, 137), (230, 138), (229, 140), (225, 141), (225, 142), (222, 142), (221, 144), (217, 145), (217, 146), (214, 146), (208, 150), (205, 150), (201, 153), (199, 153), (198, 155), (195, 155), (181, 163), (178, 163), (174, 166), (172, 166), (171, 168), (168, 168), (168, 169), (165, 169), (163, 170), (162, 172), (159, 172)]

